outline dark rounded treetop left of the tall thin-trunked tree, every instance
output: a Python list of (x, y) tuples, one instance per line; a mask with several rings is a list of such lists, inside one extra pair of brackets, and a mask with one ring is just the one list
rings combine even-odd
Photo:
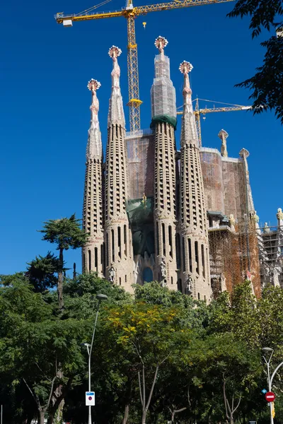
[(47, 252), (45, 257), (39, 255), (33, 261), (28, 262), (25, 275), (36, 292), (44, 292), (57, 285), (55, 274), (59, 272), (59, 268), (59, 259), (51, 252)]

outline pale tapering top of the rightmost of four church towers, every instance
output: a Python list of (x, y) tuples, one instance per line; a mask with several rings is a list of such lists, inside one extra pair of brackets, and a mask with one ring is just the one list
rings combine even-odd
[(183, 146), (185, 143), (194, 143), (198, 146), (197, 126), (195, 124), (195, 114), (192, 109), (192, 90), (190, 88), (190, 80), (188, 76), (188, 73), (192, 71), (192, 64), (184, 60), (180, 64), (179, 70), (181, 73), (183, 73), (184, 76), (184, 107), (181, 131), (181, 145)]

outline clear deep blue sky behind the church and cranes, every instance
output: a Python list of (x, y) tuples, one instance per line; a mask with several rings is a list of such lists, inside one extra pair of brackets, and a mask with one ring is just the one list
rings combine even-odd
[[(146, 4), (146, 0), (137, 4)], [(127, 102), (127, 26), (124, 18), (75, 23), (63, 28), (54, 13), (78, 13), (91, 0), (5, 1), (1, 7), (1, 208), (0, 273), (25, 269), (52, 245), (42, 242), (42, 222), (81, 218), (85, 151), (91, 95), (90, 78), (102, 84), (100, 128), (106, 140), (111, 60), (108, 49), (122, 49), (122, 94)], [(103, 10), (125, 6), (112, 0)], [(150, 13), (137, 18), (141, 124), (150, 124), (150, 87), (154, 76), (154, 40), (169, 41), (171, 77), (182, 104), (181, 61), (192, 62), (193, 97), (249, 105), (248, 91), (234, 84), (253, 75), (262, 63), (260, 40), (251, 40), (248, 20), (226, 18), (233, 3)], [(142, 22), (146, 21), (146, 30)], [(263, 35), (261, 39), (265, 39)], [(204, 106), (205, 104), (202, 104)], [(208, 104), (207, 104), (208, 105)], [(128, 117), (125, 106), (126, 117)], [(179, 125), (180, 127), (180, 125)], [(219, 148), (220, 129), (229, 133), (232, 157), (245, 147), (255, 208), (260, 221), (276, 222), (282, 199), (282, 126), (272, 113), (209, 114), (202, 122), (204, 146)], [(177, 134), (179, 136), (179, 132)], [(104, 146), (105, 147), (105, 146)], [(67, 263), (81, 269), (81, 252), (69, 251)]]

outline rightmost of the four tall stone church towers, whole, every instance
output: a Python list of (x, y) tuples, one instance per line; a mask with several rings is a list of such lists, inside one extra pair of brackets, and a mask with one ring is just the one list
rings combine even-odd
[(197, 126), (192, 109), (192, 90), (188, 73), (192, 65), (183, 61), (183, 120), (181, 129), (180, 204), (178, 225), (179, 278), (183, 292), (209, 300), (212, 295), (209, 276), (209, 242), (204, 183), (200, 165)]

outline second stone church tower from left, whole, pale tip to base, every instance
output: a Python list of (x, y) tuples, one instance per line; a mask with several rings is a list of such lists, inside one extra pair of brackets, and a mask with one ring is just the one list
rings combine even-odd
[(112, 90), (108, 110), (108, 142), (105, 163), (105, 277), (132, 291), (132, 232), (126, 204), (129, 199), (125, 116), (120, 90), (121, 50), (112, 46)]

